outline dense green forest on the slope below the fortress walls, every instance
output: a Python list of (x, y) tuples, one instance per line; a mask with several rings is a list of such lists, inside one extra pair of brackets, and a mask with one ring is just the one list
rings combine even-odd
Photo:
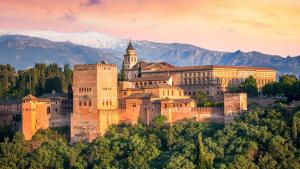
[[(223, 125), (157, 116), (151, 126), (112, 126), (92, 143), (70, 145), (62, 129), (0, 143), (1, 168), (300, 168), (300, 113), (255, 107)], [(68, 133), (68, 132), (66, 132)]]

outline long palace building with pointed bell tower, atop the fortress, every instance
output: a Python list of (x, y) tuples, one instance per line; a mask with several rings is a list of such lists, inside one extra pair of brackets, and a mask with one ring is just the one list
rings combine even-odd
[(175, 67), (165, 62), (138, 62), (137, 58), (137, 53), (130, 42), (124, 55), (124, 64), (126, 79), (134, 83), (133, 85), (142, 87), (152, 83), (168, 83), (182, 88), (185, 95), (192, 97), (198, 91), (202, 91), (214, 99), (222, 99), (230, 86), (241, 84), (249, 76), (256, 79), (259, 90), (267, 83), (276, 81), (276, 71), (267, 67), (218, 65)]

